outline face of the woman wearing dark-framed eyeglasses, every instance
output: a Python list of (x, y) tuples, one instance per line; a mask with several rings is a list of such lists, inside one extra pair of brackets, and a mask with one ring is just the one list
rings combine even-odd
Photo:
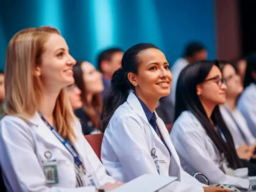
[[(216, 77), (216, 79), (213, 79)], [(208, 80), (212, 79), (212, 80)], [(205, 78), (205, 82), (197, 85), (196, 91), (199, 99), (203, 105), (208, 107), (215, 107), (218, 104), (224, 104), (226, 102), (226, 85), (220, 82), (222, 74), (216, 65), (213, 65), (212, 69)]]

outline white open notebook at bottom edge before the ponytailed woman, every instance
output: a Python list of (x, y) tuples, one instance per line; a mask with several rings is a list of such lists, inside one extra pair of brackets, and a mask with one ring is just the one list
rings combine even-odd
[(166, 187), (176, 179), (177, 177), (144, 174), (116, 188), (112, 192), (154, 192)]

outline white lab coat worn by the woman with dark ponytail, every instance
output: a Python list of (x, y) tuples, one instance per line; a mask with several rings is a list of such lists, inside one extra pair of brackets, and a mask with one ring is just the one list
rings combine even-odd
[[(157, 113), (155, 113), (157, 116)], [(127, 101), (119, 106), (104, 133), (101, 160), (108, 174), (121, 182), (129, 182), (143, 174), (158, 174), (151, 150), (156, 149), (163, 176), (179, 177), (181, 182), (173, 182), (166, 191), (203, 191), (206, 186), (183, 171), (179, 157), (169, 138), (162, 119), (157, 116), (157, 126), (171, 151), (158, 137), (135, 94), (130, 93)]]

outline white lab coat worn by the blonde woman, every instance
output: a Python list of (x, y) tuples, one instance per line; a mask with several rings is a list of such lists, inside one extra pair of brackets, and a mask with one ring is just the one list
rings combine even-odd
[[(76, 188), (74, 157), (44, 124), (38, 113), (26, 123), (15, 116), (4, 116), (0, 123), (0, 163), (8, 191), (14, 192), (91, 192), (95, 187)], [(107, 176), (90, 144), (82, 135), (78, 119), (74, 122), (77, 140), (73, 146), (84, 162), (88, 173), (94, 172), (99, 185), (115, 182)], [(59, 183), (46, 185), (42, 161), (44, 153), (51, 152), (57, 160)]]

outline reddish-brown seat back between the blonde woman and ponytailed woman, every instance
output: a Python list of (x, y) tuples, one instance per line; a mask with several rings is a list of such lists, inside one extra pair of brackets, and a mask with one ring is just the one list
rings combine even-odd
[(90, 144), (93, 151), (98, 156), (99, 160), (101, 160), (101, 144), (103, 140), (104, 133), (98, 133), (93, 135), (85, 135), (86, 140)]

